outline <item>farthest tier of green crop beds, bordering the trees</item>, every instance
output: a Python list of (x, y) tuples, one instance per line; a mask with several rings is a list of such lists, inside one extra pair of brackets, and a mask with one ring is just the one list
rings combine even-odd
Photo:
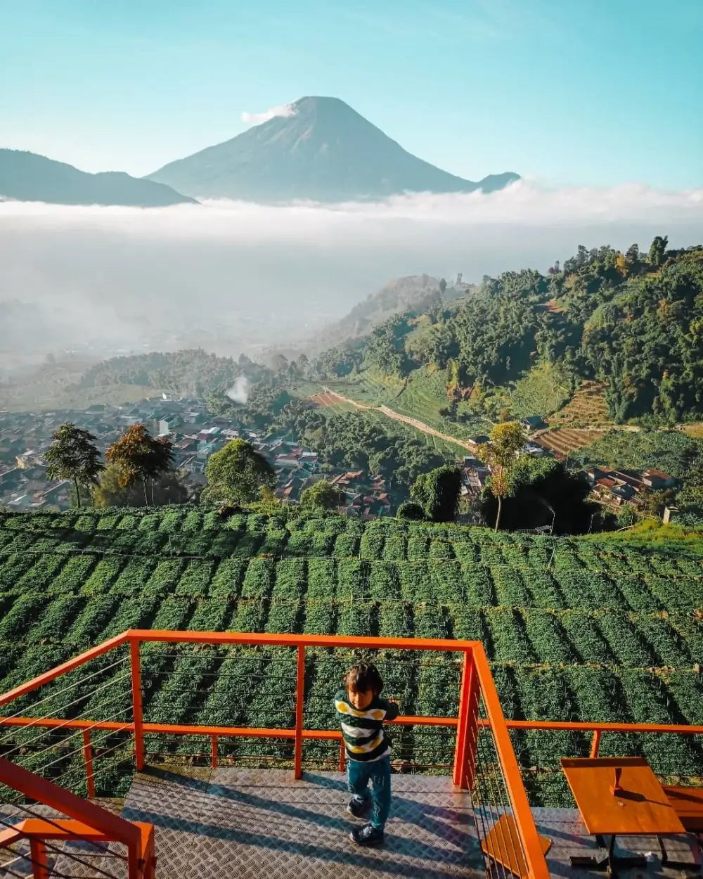
[[(369, 560), (458, 559), (461, 563), (505, 565), (518, 570), (600, 572), (703, 578), (695, 548), (682, 551), (636, 548), (596, 540), (527, 538), (483, 530), (397, 519), (359, 523), (355, 519), (307, 519), (216, 513), (116, 512), (76, 514), (0, 514), (0, 553), (95, 551), (139, 555), (359, 556)], [(6, 562), (5, 562), (6, 565)]]

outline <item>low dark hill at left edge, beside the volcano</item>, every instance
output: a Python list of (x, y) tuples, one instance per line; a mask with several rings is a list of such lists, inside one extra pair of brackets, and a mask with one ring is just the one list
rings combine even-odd
[(57, 205), (165, 207), (195, 200), (122, 171), (87, 174), (73, 165), (20, 149), (0, 149), (0, 197)]

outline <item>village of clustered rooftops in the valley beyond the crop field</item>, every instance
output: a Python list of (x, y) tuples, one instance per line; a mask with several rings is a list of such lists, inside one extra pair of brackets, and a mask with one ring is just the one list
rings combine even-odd
[[(10, 510), (69, 508), (70, 484), (48, 480), (44, 459), (52, 443), (52, 433), (67, 421), (90, 431), (103, 455), (130, 425), (144, 424), (153, 435), (168, 436), (173, 443), (174, 469), (180, 473), (190, 497), (197, 497), (207, 483), (205, 469), (210, 455), (231, 439), (241, 437), (271, 462), (277, 474), (274, 493), (281, 503), (299, 501), (304, 490), (320, 479), (327, 479), (344, 498), (339, 512), (364, 520), (395, 512), (382, 476), (333, 467), (320, 461), (315, 450), (304, 447), (299, 438), (275, 432), (265, 434), (243, 428), (228, 417), (213, 417), (205, 402), (197, 398), (146, 399), (123, 406), (96, 404), (85, 410), (0, 412), (0, 505)], [(467, 512), (462, 518), (467, 521), (476, 519), (482, 491), (490, 476), (489, 466), (479, 455), (480, 446), (487, 442), (486, 436), (476, 437), (476, 454), (456, 461), (461, 471), (461, 498)], [(528, 440), (523, 454), (549, 453)], [(585, 476), (591, 483), (591, 499), (612, 507), (623, 504), (640, 507), (648, 491), (672, 489), (677, 484), (672, 476), (655, 469), (642, 473), (589, 469)]]

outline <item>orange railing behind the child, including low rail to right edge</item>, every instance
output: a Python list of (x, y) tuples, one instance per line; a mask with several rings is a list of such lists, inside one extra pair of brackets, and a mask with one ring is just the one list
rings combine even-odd
[[(228, 725), (198, 725), (186, 723), (149, 723), (144, 720), (142, 707), (141, 647), (145, 643), (189, 643), (209, 644), (220, 648), (236, 645), (255, 647), (281, 647), (294, 650), (295, 674), (294, 712), (292, 725), (281, 727), (253, 727)], [(99, 644), (80, 656), (70, 659), (54, 669), (40, 674), (33, 680), (15, 687), (0, 695), (0, 710), (33, 694), (34, 691), (70, 672), (103, 657), (112, 650), (127, 650), (120, 662), (124, 662), (127, 698), (131, 702), (131, 719), (29, 716), (27, 708), (12, 712), (4, 710), (6, 716), (0, 717), (0, 728), (47, 730), (47, 734), (60, 730), (73, 730), (80, 737), (78, 752), (82, 754), (85, 789), (89, 796), (96, 793), (95, 777), (98, 769), (96, 760), (101, 753), (95, 752), (91, 735), (99, 732), (117, 737), (130, 737), (134, 743), (134, 766), (141, 769), (146, 762), (145, 737), (209, 737), (211, 747), (209, 759), (216, 766), (220, 759), (219, 743), (222, 738), (252, 737), (285, 740), (293, 745), (292, 766), (296, 778), (300, 778), (303, 765), (303, 743), (306, 741), (330, 741), (340, 743), (338, 729), (308, 729), (304, 724), (304, 702), (306, 696), (306, 650), (308, 649), (345, 650), (392, 650), (392, 651), (434, 651), (452, 653), (460, 658), (460, 683), (458, 693), (459, 710), (457, 716), (401, 716), (395, 722), (402, 726), (444, 727), (455, 730), (453, 745), (453, 783), (459, 788), (470, 789), (475, 793), (475, 807), (483, 810), (493, 821), (502, 812), (509, 810), (518, 828), (518, 844), (525, 857), (530, 875), (546, 877), (547, 864), (541, 852), (532, 812), (528, 803), (518, 760), (511, 743), (511, 731), (552, 730), (591, 733), (591, 755), (598, 754), (601, 737), (610, 733), (666, 733), (674, 735), (701, 735), (703, 726), (665, 725), (656, 723), (592, 723), (562, 721), (523, 721), (506, 720), (500, 705), (496, 686), (492, 679), (489, 663), (482, 644), (469, 641), (450, 641), (416, 638), (373, 638), (346, 636), (303, 636), (273, 635), (236, 632), (178, 632), (161, 630), (128, 630), (110, 641)], [(109, 658), (109, 657), (108, 657)], [(488, 741), (488, 747), (486, 743)], [(488, 755), (488, 756), (487, 756)], [(558, 755), (561, 756), (561, 755)], [(340, 768), (344, 767), (344, 747), (340, 747)], [(488, 779), (489, 784), (479, 790), (478, 782)], [(11, 781), (0, 775), (0, 781)], [(15, 786), (16, 787), (16, 786)], [(17, 788), (16, 789), (20, 789)], [(488, 792), (488, 793), (487, 793)], [(45, 791), (46, 795), (46, 791)], [(487, 799), (488, 797), (488, 799)], [(47, 802), (47, 800), (42, 800)], [(80, 802), (84, 803), (83, 800)], [(51, 804), (49, 802), (49, 804)], [(70, 816), (69, 816), (70, 817)], [(84, 816), (84, 818), (87, 816)], [(82, 819), (83, 820), (83, 819)], [(83, 820), (91, 825), (90, 820)], [(127, 823), (128, 824), (128, 823)], [(477, 821), (478, 824), (478, 821)], [(93, 824), (91, 826), (98, 826)], [(98, 828), (99, 829), (99, 828)], [(481, 829), (478, 828), (479, 833)]]

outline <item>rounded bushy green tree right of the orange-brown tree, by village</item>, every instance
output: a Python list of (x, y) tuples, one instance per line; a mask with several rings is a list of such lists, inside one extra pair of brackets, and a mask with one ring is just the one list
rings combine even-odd
[(215, 504), (256, 500), (262, 486), (273, 489), (276, 473), (263, 454), (243, 439), (233, 439), (210, 455), (205, 469), (207, 488), (202, 499)]

